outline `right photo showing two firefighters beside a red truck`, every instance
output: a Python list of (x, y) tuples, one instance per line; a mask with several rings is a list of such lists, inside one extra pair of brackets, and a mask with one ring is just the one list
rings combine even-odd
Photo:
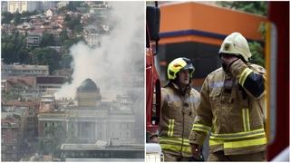
[(289, 2), (146, 2), (146, 162), (289, 152)]

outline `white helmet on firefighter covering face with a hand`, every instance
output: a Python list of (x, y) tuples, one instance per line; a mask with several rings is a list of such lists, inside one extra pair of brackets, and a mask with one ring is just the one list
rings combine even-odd
[(218, 53), (240, 54), (246, 62), (252, 56), (246, 38), (239, 33), (229, 34), (221, 44)]

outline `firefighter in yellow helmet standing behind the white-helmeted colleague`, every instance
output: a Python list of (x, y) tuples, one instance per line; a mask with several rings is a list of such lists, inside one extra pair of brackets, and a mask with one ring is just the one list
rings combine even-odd
[(184, 57), (169, 63), (169, 83), (161, 89), (159, 143), (165, 161), (189, 161), (189, 134), (199, 103), (199, 92), (191, 88), (195, 68)]

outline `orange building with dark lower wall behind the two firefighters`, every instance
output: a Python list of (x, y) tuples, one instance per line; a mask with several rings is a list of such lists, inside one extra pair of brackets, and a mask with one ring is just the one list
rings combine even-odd
[(239, 32), (248, 41), (263, 42), (258, 29), (268, 21), (265, 16), (198, 2), (160, 5), (160, 15), (161, 80), (165, 81), (167, 63), (182, 55), (195, 63), (197, 88), (220, 66), (217, 53), (228, 34)]

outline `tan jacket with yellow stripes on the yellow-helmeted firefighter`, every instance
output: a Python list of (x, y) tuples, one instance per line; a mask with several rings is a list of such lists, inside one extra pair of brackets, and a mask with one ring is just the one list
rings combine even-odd
[(182, 93), (173, 82), (161, 89), (160, 146), (164, 152), (190, 157), (189, 134), (199, 104), (199, 92)]

